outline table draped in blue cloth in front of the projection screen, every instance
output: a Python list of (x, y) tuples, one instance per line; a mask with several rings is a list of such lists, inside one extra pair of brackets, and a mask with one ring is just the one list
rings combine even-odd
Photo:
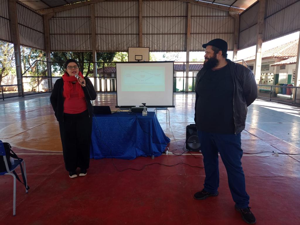
[(90, 158), (134, 159), (160, 156), (170, 138), (159, 124), (156, 114), (117, 112), (93, 118)]

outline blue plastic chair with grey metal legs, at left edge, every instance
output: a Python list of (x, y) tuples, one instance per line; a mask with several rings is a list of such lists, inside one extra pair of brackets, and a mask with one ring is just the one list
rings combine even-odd
[[(0, 156), (3, 156), (4, 164), (6, 167), (6, 172), (0, 172), (0, 175), (11, 175), (13, 176), (13, 215), (16, 215), (16, 176), (13, 174), (13, 171), (20, 165), (20, 163), (23, 163), (23, 169), (24, 169), (24, 175), (26, 179), (26, 193), (28, 193), (28, 185), (27, 185), (27, 177), (26, 177), (26, 167), (25, 167), (25, 161), (23, 159), (14, 159), (14, 164), (11, 165), (11, 167), (8, 167), (7, 159), (5, 156), (5, 149), (3, 142), (0, 141)], [(0, 157), (1, 160), (1, 157)]]

